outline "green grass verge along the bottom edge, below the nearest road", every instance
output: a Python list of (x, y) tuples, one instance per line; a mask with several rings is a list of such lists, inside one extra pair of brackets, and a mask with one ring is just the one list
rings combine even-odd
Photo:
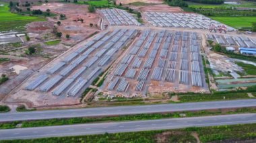
[[(164, 133), (168, 134), (164, 134)], [(5, 140), (3, 142), (143, 142), (153, 143), (166, 138), (166, 142), (196, 142), (191, 136), (192, 132), (197, 132), (201, 142), (223, 142), (228, 139), (250, 140), (256, 138), (256, 124), (239, 124), (228, 126), (211, 126), (211, 127), (192, 127), (174, 130), (155, 130), (143, 132), (125, 132), (115, 134), (98, 134), (86, 136), (67, 136), (53, 138), (39, 138), (29, 140)], [(160, 135), (160, 136), (159, 136)]]

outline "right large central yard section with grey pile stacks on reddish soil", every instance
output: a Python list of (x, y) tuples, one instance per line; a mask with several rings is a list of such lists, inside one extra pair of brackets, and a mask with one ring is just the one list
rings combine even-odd
[(105, 81), (112, 95), (207, 90), (196, 33), (145, 30)]

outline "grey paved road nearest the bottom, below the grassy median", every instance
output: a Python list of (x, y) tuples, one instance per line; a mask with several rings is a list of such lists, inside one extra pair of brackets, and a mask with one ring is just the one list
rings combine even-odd
[(0, 140), (256, 123), (256, 113), (0, 130)]

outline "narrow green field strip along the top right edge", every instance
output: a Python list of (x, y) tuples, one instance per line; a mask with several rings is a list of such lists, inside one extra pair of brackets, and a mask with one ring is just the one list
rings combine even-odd
[(210, 5), (210, 4), (192, 3), (192, 2), (187, 2), (187, 4), (189, 4), (189, 7), (205, 8), (205, 9), (226, 8), (226, 7), (249, 7), (249, 8), (256, 8), (256, 2), (253, 2), (253, 1), (240, 1), (240, 5), (230, 5), (230, 4)]

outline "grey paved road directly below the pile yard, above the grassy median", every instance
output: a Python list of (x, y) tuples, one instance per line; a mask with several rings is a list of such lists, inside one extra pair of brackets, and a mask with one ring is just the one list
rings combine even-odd
[(82, 109), (59, 109), (47, 111), (27, 111), (18, 113), (0, 113), (0, 122), (42, 120), (64, 117), (93, 117), (101, 115), (129, 115), (139, 113), (160, 113), (170, 111), (195, 111), (203, 109), (222, 109), (256, 106), (256, 99), (209, 101), (195, 103), (170, 103), (158, 105), (137, 105), (121, 107), (96, 107)]

